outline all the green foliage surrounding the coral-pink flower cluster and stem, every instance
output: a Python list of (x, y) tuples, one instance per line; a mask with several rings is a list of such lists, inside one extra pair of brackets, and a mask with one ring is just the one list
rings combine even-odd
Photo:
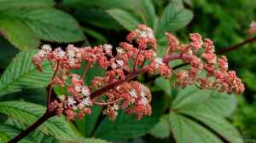
[[(125, 41), (126, 31), (144, 23), (156, 31), (161, 56), (166, 49), (163, 31), (175, 33), (182, 41), (188, 40), (184, 35), (189, 32), (199, 32), (212, 38), (216, 49), (221, 49), (247, 37), (247, 26), (256, 20), (255, 9), (253, 0), (0, 0), (0, 142), (13, 139), (46, 110), (46, 86), (53, 72), (47, 62), (43, 64), (44, 72), (38, 72), (31, 62), (43, 43), (54, 47), (67, 43), (117, 45)], [(254, 139), (255, 49), (252, 43), (227, 54), (230, 68), (246, 83), (245, 100), (195, 87), (174, 89), (175, 79), (152, 80), (143, 76), (138, 80), (147, 83), (154, 94), (151, 117), (137, 121), (119, 112), (116, 121), (111, 122), (102, 115), (101, 107), (94, 106), (93, 114), (73, 123), (52, 117), (20, 142), (107, 143), (142, 139), (240, 143), (242, 136)], [(100, 68), (90, 69), (85, 82), (90, 84), (91, 77), (102, 74)], [(55, 89), (55, 94), (62, 93)]]

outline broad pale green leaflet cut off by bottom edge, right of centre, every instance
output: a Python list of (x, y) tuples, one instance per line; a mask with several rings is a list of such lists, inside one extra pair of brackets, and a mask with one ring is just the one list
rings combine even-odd
[(182, 115), (170, 113), (169, 122), (177, 143), (222, 143), (209, 130)]

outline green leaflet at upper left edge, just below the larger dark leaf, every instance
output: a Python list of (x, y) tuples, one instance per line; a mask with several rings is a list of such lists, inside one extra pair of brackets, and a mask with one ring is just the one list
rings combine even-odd
[(36, 34), (20, 20), (3, 18), (0, 20), (0, 31), (2, 31), (3, 36), (6, 37), (10, 43), (20, 50), (35, 49), (40, 44), (40, 40)]

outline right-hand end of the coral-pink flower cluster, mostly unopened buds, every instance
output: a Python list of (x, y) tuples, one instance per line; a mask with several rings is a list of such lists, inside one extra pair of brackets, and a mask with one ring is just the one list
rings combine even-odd
[(177, 71), (177, 85), (197, 85), (200, 89), (218, 89), (220, 92), (241, 94), (244, 85), (235, 71), (228, 71), (228, 60), (217, 58), (214, 45), (208, 38), (202, 40), (198, 33), (190, 34), (189, 44), (178, 44), (177, 38), (166, 33), (169, 54), (179, 53), (179, 58), (189, 63), (189, 68)]

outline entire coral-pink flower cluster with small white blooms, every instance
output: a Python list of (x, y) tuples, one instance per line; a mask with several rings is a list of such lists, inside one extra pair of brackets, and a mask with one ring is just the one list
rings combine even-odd
[[(154, 33), (144, 25), (131, 31), (126, 37), (128, 43), (119, 43), (117, 48), (109, 44), (84, 48), (68, 45), (64, 50), (43, 45), (32, 62), (38, 70), (44, 71), (42, 62), (48, 60), (55, 71), (49, 87), (59, 86), (65, 90), (65, 94), (49, 100), (49, 110), (65, 115), (67, 120), (90, 114), (90, 107), (94, 105), (106, 106), (103, 113), (112, 120), (120, 109), (135, 114), (137, 119), (148, 116), (151, 114), (150, 91), (143, 83), (132, 81), (142, 73), (160, 74), (167, 78), (175, 73), (176, 84), (182, 87), (199, 84), (201, 89), (219, 89), (237, 94), (244, 90), (236, 72), (228, 72), (227, 59), (221, 56), (217, 62), (211, 40), (203, 41), (199, 34), (191, 34), (189, 44), (179, 44), (177, 38), (169, 33), (166, 33), (166, 38), (168, 49), (164, 58), (157, 56)], [(172, 60), (183, 60), (190, 67), (173, 72), (169, 66)], [(93, 77), (90, 84), (84, 83), (86, 72), (96, 65), (104, 69), (105, 74)], [(81, 68), (81, 75), (72, 71)], [(206, 72), (205, 77), (199, 76), (202, 71)]]

